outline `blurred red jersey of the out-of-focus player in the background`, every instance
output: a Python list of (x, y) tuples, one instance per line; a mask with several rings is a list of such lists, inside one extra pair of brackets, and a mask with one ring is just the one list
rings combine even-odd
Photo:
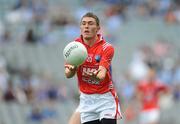
[(147, 81), (141, 81), (138, 84), (138, 91), (141, 92), (142, 95), (142, 110), (159, 108), (159, 93), (165, 90), (167, 90), (166, 85), (158, 81), (154, 81), (152, 83), (149, 83)]

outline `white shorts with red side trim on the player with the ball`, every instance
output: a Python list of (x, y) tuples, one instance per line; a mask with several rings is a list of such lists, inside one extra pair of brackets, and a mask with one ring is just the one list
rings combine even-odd
[(118, 119), (121, 117), (120, 105), (111, 92), (105, 94), (80, 95), (80, 104), (76, 111), (81, 113), (81, 123), (102, 118)]

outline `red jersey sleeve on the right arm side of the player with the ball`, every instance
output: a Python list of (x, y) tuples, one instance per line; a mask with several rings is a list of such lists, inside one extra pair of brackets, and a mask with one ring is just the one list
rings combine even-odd
[(112, 45), (109, 45), (104, 49), (99, 65), (104, 66), (106, 69), (109, 69), (113, 56), (114, 56), (114, 48)]

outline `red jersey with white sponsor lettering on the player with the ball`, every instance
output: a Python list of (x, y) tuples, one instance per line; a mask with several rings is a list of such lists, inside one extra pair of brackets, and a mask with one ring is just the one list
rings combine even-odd
[[(84, 43), (82, 37), (77, 38), (75, 41), (84, 44), (88, 51), (86, 61), (77, 69), (80, 91), (86, 94), (103, 94), (110, 91), (110, 86), (112, 86), (110, 66), (114, 55), (113, 46), (107, 43), (101, 35), (98, 35), (98, 40), (91, 47)], [(98, 70), (99, 66), (104, 66), (107, 69), (106, 77), (103, 81), (93, 80), (84, 74), (85, 72)]]

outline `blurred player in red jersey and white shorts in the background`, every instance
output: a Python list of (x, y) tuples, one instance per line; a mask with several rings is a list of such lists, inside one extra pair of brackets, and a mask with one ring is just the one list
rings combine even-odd
[(147, 78), (139, 81), (137, 85), (137, 98), (141, 106), (140, 124), (159, 124), (159, 99), (160, 95), (167, 91), (168, 86), (157, 80), (155, 69), (149, 69)]

